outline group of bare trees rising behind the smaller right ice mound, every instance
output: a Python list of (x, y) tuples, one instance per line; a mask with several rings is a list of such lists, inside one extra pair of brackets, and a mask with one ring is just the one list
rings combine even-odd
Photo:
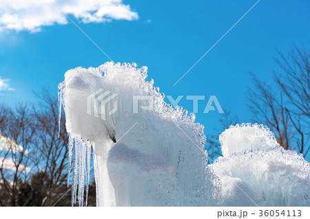
[(254, 87), (247, 95), (257, 122), (265, 123), (285, 149), (296, 149), (307, 156), (310, 119), (310, 53), (293, 45), (288, 56), (278, 51), (274, 58), (280, 72), (273, 72), (270, 86), (254, 73)]

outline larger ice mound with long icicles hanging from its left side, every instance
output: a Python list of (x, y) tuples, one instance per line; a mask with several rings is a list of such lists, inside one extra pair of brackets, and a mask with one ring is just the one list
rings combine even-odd
[[(204, 126), (194, 122), (193, 113), (166, 104), (164, 94), (146, 77), (147, 67), (138, 69), (135, 63), (106, 62), (65, 73), (59, 100), (71, 137), (73, 203), (77, 198), (83, 205), (92, 148), (99, 206), (207, 205)], [(87, 97), (99, 89), (96, 97), (117, 95), (117, 111), (105, 119), (93, 100), (88, 105), (94, 104), (94, 112), (87, 114)], [(139, 100), (133, 113), (134, 96), (152, 97), (152, 108), (143, 111), (140, 106), (149, 102)], [(115, 101), (105, 106), (110, 112)]]

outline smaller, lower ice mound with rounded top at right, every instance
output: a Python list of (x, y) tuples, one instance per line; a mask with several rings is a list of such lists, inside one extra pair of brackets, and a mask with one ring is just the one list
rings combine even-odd
[(220, 135), (224, 157), (207, 168), (224, 206), (309, 206), (310, 166), (302, 154), (278, 145), (262, 125), (230, 126)]

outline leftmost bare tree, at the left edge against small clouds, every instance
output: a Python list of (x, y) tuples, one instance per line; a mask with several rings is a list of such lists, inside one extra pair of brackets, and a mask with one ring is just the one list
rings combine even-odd
[(29, 108), (19, 104), (15, 111), (1, 106), (6, 113), (1, 113), (0, 176), (1, 193), (6, 195), (6, 203), (0, 205), (17, 206), (19, 186), (27, 181), (33, 168), (31, 156), (34, 139), (34, 123)]

